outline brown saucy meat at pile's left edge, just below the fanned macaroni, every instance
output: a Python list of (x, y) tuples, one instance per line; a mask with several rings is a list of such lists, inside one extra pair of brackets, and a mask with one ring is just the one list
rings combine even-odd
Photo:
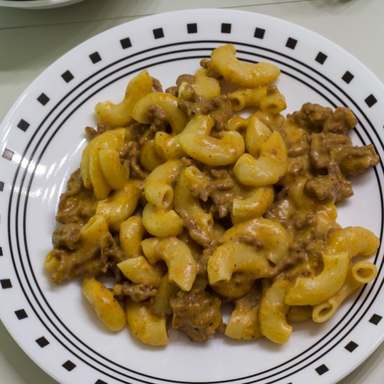
[(59, 223), (87, 223), (96, 212), (96, 198), (91, 189), (82, 184), (80, 169), (75, 170), (67, 183), (67, 191), (59, 200), (56, 219)]

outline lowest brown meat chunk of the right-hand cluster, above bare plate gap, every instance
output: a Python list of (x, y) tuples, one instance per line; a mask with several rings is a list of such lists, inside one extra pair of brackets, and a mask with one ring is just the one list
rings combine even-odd
[(340, 202), (353, 195), (352, 182), (342, 175), (337, 163), (330, 163), (327, 175), (319, 175), (305, 184), (305, 192), (320, 201)]

